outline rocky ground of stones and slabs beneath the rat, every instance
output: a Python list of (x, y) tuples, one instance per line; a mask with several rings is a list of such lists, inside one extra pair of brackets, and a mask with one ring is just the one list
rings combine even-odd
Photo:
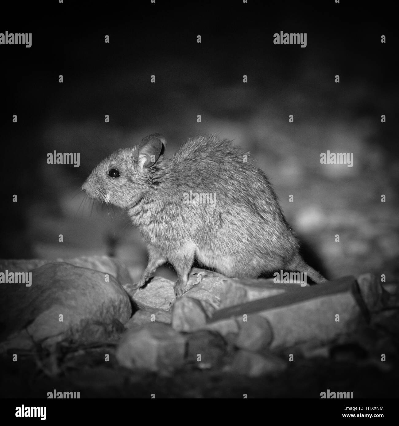
[(302, 286), (197, 270), (175, 299), (105, 256), (1, 267), (32, 272), (1, 288), (3, 397), (398, 396), (398, 288), (370, 274)]

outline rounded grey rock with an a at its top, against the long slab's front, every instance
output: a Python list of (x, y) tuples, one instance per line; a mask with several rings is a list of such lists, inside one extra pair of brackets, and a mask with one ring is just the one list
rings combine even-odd
[(238, 321), (240, 326), (236, 346), (248, 351), (259, 351), (273, 340), (273, 331), (266, 318), (260, 315), (248, 315), (247, 321)]

